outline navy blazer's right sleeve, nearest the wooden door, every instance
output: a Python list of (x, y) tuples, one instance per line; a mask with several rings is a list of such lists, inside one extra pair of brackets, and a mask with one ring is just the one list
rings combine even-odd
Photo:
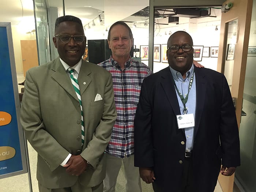
[(222, 165), (240, 166), (240, 144), (236, 113), (231, 99), (227, 80), (223, 78), (223, 95), (221, 105), (220, 142), (222, 148)]

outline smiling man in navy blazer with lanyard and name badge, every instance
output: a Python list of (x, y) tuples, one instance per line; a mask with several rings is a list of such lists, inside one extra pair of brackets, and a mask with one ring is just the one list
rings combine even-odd
[[(193, 65), (185, 31), (167, 42), (169, 67), (144, 79), (135, 116), (135, 166), (155, 192), (213, 192), (240, 165), (238, 126), (225, 76)], [(222, 165), (222, 167), (221, 167)]]

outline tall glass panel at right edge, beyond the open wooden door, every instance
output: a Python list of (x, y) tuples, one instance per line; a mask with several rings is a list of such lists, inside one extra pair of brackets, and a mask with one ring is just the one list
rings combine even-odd
[(235, 180), (241, 191), (256, 191), (256, 0), (253, 0), (252, 21), (245, 72), (242, 118), (240, 124), (241, 166)]

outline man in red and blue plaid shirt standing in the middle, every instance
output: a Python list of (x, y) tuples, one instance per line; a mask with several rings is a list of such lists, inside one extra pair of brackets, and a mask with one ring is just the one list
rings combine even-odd
[(115, 191), (117, 176), (123, 161), (126, 191), (141, 192), (138, 167), (134, 167), (134, 117), (139, 102), (140, 86), (152, 70), (130, 57), (133, 35), (129, 26), (121, 21), (114, 23), (108, 33), (112, 51), (110, 59), (99, 63), (112, 74), (117, 120), (106, 148), (106, 178), (104, 192)]

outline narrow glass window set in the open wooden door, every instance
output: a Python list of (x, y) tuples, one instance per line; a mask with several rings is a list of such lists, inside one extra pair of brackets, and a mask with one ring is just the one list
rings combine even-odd
[(237, 41), (237, 25), (238, 19), (230, 21), (227, 23), (227, 44), (226, 44), (226, 60), (224, 63), (224, 75), (227, 78), (227, 83), (231, 90), (232, 86), (232, 76), (234, 67), (234, 53)]

